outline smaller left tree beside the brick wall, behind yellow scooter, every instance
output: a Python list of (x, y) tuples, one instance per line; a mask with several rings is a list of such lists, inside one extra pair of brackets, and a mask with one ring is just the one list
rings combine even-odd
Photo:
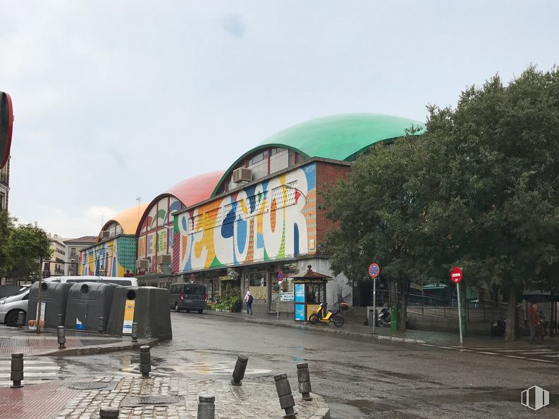
[(402, 330), (410, 282), (424, 272), (427, 250), (422, 246), (425, 203), (415, 180), (423, 158), (414, 139), (379, 144), (357, 159), (348, 180), (324, 192), (326, 216), (338, 225), (326, 236), (333, 272), (356, 282), (366, 277), (370, 263), (379, 263), (381, 275), (398, 283)]

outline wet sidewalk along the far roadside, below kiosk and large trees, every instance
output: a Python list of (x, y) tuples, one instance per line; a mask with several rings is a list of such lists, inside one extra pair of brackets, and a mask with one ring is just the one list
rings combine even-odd
[[(393, 332), (390, 327), (375, 327), (375, 334), (373, 334), (373, 327), (357, 325), (350, 323), (346, 319), (342, 327), (334, 325), (310, 325), (302, 322), (295, 322), (293, 318), (281, 315), (276, 318), (276, 315), (266, 314), (253, 314), (247, 315), (246, 313), (226, 313), (223, 311), (204, 311), (216, 316), (223, 316), (228, 318), (235, 318), (237, 320), (245, 321), (248, 323), (259, 323), (262, 325), (273, 325), (281, 327), (293, 327), (297, 329), (313, 330), (317, 332), (336, 333), (346, 336), (367, 337), (369, 339), (386, 339), (393, 342), (404, 342), (410, 344), (430, 344), (436, 346), (460, 346), (460, 336), (458, 333), (448, 332), (429, 332), (424, 330), (406, 330), (405, 332)], [(511, 349), (525, 349), (533, 347), (530, 345), (528, 337), (520, 337), (515, 342), (505, 341), (503, 337), (489, 337), (489, 336), (471, 336), (464, 337), (463, 346), (492, 346), (492, 347), (507, 347)], [(559, 337), (546, 337), (541, 348), (556, 348), (559, 346)]]

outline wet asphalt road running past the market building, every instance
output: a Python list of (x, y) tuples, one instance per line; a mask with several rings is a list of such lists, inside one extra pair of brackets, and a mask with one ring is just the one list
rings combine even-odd
[[(228, 379), (238, 353), (250, 356), (245, 380), (273, 384), (296, 363), (309, 363), (313, 391), (333, 418), (557, 418), (557, 363), (510, 358), (488, 349), (400, 344), (244, 323), (211, 314), (171, 313), (173, 340), (152, 349), (153, 371)], [(56, 360), (59, 377), (137, 373), (138, 356), (123, 352)], [(550, 405), (533, 413), (523, 389), (539, 385)]]

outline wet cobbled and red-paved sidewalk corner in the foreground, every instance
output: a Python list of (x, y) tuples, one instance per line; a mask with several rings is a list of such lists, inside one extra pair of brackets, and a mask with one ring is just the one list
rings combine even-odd
[[(274, 380), (271, 380), (272, 382)], [(317, 394), (303, 401), (292, 387), (298, 418), (329, 418)], [(178, 377), (90, 377), (21, 389), (0, 389), (3, 418), (99, 418), (101, 407), (119, 407), (118, 418), (196, 418), (198, 396), (215, 396), (216, 418), (282, 418), (275, 385), (243, 380), (240, 387), (224, 380)]]

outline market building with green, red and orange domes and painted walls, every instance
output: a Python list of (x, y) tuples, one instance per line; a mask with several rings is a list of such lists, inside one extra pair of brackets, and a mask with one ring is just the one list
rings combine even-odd
[[(333, 225), (319, 208), (321, 192), (347, 176), (371, 145), (402, 137), (412, 125), (421, 123), (357, 113), (289, 127), (225, 172), (192, 177), (156, 196), (136, 211), (135, 223), (129, 219), (135, 208), (110, 220), (98, 243), (80, 252), (80, 271), (133, 274), (140, 284), (159, 287), (201, 282), (214, 301), (250, 289), (254, 311), (293, 313), (289, 277), (312, 265), (332, 277), (326, 296), (317, 299), (351, 304), (348, 278), (333, 275), (324, 252)], [(281, 287), (280, 272), (287, 278)]]

